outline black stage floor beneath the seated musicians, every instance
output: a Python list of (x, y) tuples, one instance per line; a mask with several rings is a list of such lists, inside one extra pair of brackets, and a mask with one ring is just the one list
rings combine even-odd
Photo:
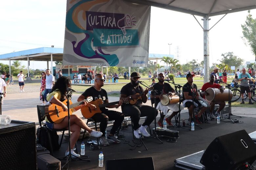
[[(188, 113), (182, 113), (181, 118), (188, 117)], [(158, 120), (159, 118), (157, 118)], [(160, 137), (163, 144), (155, 138), (144, 139), (144, 143), (148, 150), (144, 146), (137, 147), (135, 150), (130, 150), (131, 146), (124, 144), (121, 140), (120, 144), (114, 144), (110, 142), (109, 146), (102, 146), (102, 149), (92, 151), (89, 149), (89, 144), (86, 145), (85, 155), (89, 156), (91, 162), (86, 161), (71, 161), (69, 162), (68, 169), (76, 170), (87, 170), (87, 169), (105, 169), (106, 160), (112, 159), (127, 159), (127, 158), (142, 158), (142, 157), (152, 157), (156, 170), (174, 170), (178, 169), (174, 167), (174, 159), (178, 159), (207, 148), (207, 146), (215, 139), (217, 136), (235, 132), (238, 130), (245, 129), (247, 133), (256, 131), (256, 118), (242, 117), (239, 118), (240, 121), (244, 123), (232, 123), (230, 120), (221, 121), (217, 124), (216, 121), (208, 121), (208, 123), (203, 123), (200, 125), (203, 129), (195, 126), (195, 131), (189, 131), (183, 128), (177, 128), (180, 134), (180, 138), (175, 143), (166, 142), (169, 138)], [(187, 122), (187, 121), (186, 121)], [(110, 129), (111, 127), (108, 127)], [(151, 126), (153, 128), (153, 124)], [(131, 129), (131, 127), (129, 127)], [(175, 129), (174, 129), (175, 130)], [(121, 131), (120, 133), (123, 133)], [(125, 132), (125, 140), (132, 141), (132, 134)], [(86, 140), (84, 140), (86, 142)], [(81, 140), (77, 142), (77, 149), (80, 153)], [(67, 143), (62, 144), (61, 148), (54, 152), (54, 157), (58, 158), (64, 156), (65, 150), (67, 148)], [(102, 151), (104, 154), (104, 166), (98, 167), (98, 155)], [(61, 164), (65, 163), (62, 160)], [(147, 162), (140, 162), (145, 164)], [(126, 165), (123, 164), (123, 167)], [(67, 168), (67, 167), (66, 167)], [(65, 168), (65, 169), (66, 169)], [(119, 167), (118, 169), (122, 169)]]

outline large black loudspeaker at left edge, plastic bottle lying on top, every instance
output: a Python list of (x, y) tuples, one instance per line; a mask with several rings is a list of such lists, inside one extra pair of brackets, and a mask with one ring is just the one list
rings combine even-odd
[(0, 125), (0, 169), (36, 169), (35, 123)]

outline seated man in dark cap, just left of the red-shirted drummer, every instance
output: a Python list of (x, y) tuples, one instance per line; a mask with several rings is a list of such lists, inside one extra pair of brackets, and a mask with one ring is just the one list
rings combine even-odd
[[(199, 93), (197, 92), (197, 85), (193, 83), (194, 81), (194, 74), (188, 73), (186, 78), (187, 78), (187, 83), (184, 84), (182, 88), (182, 93), (183, 93), (183, 106), (185, 108), (188, 108), (189, 112), (189, 118), (190, 122), (193, 121), (193, 109), (195, 107), (201, 107), (202, 104), (198, 101), (200, 96)], [(193, 101), (194, 99), (194, 106), (193, 106)], [(196, 123), (200, 124), (202, 121), (198, 119), (198, 117), (201, 117), (203, 112), (207, 109), (207, 107), (202, 107), (201, 110), (199, 111), (198, 115), (195, 116)]]

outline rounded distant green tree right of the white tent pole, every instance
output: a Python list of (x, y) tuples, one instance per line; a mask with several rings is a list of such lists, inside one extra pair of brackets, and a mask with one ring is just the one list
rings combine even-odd
[(224, 53), (221, 56), (222, 59), (219, 61), (221, 61), (222, 64), (227, 65), (229, 68), (231, 68), (231, 66), (239, 68), (244, 62), (244, 59), (235, 56), (233, 52)]

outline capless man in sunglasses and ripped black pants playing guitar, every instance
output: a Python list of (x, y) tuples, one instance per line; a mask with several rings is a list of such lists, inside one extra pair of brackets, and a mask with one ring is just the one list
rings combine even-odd
[[(94, 79), (94, 86), (88, 88), (83, 94), (81, 94), (78, 97), (77, 101), (82, 101), (88, 96), (92, 96), (93, 101), (97, 99), (101, 99), (102, 101), (104, 101), (104, 103), (109, 103), (107, 92), (106, 90), (101, 88), (102, 86), (104, 86), (104, 77), (101, 74), (96, 74)], [(88, 103), (87, 105), (90, 108), (94, 107), (96, 109), (95, 105), (92, 105), (90, 103)], [(121, 105), (122, 105), (122, 101), (120, 100), (117, 105), (111, 105), (111, 106), (108, 106), (108, 108), (118, 108)], [(100, 128), (100, 131), (102, 132), (102, 136), (100, 137), (101, 144), (104, 146), (109, 145), (107, 139), (114, 143), (120, 143), (120, 141), (114, 136), (114, 134), (122, 124), (122, 121), (124, 119), (123, 114), (118, 111), (108, 110), (105, 107), (100, 108), (100, 110), (101, 110), (101, 113), (96, 113), (91, 118), (97, 122), (100, 122), (99, 128)], [(108, 125), (108, 119), (115, 120), (115, 122), (106, 139), (105, 131)]]

